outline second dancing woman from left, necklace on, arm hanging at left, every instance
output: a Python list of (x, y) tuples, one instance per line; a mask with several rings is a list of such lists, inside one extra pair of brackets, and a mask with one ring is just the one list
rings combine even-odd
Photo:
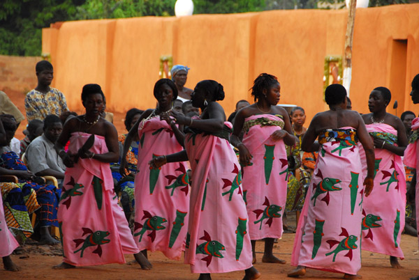
[(184, 134), (169, 116), (177, 98), (177, 88), (170, 79), (154, 85), (157, 109), (147, 109), (126, 136), (121, 155), (125, 175), (126, 153), (138, 134), (138, 173), (135, 175), (134, 239), (138, 249), (161, 251), (179, 260), (185, 248), (189, 212), (189, 176), (186, 162), (172, 163), (161, 169), (149, 168), (148, 162), (159, 155), (183, 150)]

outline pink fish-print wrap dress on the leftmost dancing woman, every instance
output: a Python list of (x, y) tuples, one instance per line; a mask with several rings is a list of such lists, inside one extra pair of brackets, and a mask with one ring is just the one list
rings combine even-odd
[[(77, 153), (90, 135), (73, 132), (68, 150)], [(108, 153), (105, 137), (96, 135), (90, 151)], [(117, 201), (108, 163), (80, 158), (67, 167), (58, 209), (64, 263), (125, 263), (124, 254), (138, 253)]]

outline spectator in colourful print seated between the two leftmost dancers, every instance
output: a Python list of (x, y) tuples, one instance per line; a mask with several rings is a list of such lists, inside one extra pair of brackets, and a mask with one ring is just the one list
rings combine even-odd
[[(126, 112), (124, 124), (126, 130), (129, 132), (131, 127), (137, 123), (137, 120), (140, 118), (141, 114), (144, 111), (133, 108)], [(138, 133), (135, 134), (135, 138), (129, 146), (128, 153), (126, 153), (126, 162), (128, 164), (128, 171), (130, 175), (122, 178), (119, 173), (119, 165), (121, 163), (121, 156), (124, 151), (124, 143), (126, 139), (126, 134), (119, 135), (119, 162), (111, 164), (112, 177), (114, 178), (115, 189), (117, 192), (121, 191), (121, 206), (124, 209), (125, 217), (129, 222), (129, 217), (134, 210), (134, 176), (137, 173), (137, 163), (138, 163), (138, 145), (140, 139), (138, 139)]]

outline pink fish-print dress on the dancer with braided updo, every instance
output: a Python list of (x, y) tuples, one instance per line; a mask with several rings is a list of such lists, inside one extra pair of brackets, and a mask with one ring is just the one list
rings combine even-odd
[(281, 238), (283, 232), (288, 160), (284, 140), (271, 139), (284, 128), (281, 117), (263, 114), (244, 120), (243, 143), (253, 157), (251, 165), (243, 167), (242, 182), (251, 240)]

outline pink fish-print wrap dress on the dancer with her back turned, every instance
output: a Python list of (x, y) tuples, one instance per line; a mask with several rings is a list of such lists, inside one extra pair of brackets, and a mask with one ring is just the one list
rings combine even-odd
[(357, 274), (364, 186), (356, 130), (325, 130), (318, 142), (321, 150), (298, 221), (291, 265)]

